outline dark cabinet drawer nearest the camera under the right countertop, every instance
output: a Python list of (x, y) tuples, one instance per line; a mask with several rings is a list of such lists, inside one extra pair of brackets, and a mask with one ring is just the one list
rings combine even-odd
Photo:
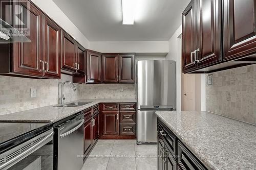
[(178, 141), (178, 163), (181, 169), (207, 169), (204, 165), (190, 153), (185, 146)]

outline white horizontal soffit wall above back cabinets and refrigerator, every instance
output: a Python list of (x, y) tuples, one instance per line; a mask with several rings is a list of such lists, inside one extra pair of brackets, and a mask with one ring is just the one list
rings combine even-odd
[(101, 53), (168, 53), (168, 41), (91, 41), (90, 49)]

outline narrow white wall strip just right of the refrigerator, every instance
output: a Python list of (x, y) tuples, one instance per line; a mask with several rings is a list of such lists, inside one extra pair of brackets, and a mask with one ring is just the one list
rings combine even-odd
[(181, 38), (178, 38), (182, 33), (181, 26), (176, 30), (169, 39), (169, 53), (166, 60), (176, 61), (176, 99), (177, 111), (181, 111)]

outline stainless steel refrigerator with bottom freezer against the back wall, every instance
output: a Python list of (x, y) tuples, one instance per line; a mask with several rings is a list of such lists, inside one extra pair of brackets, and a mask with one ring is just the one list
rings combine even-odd
[(137, 61), (137, 144), (157, 142), (155, 111), (176, 110), (176, 62)]

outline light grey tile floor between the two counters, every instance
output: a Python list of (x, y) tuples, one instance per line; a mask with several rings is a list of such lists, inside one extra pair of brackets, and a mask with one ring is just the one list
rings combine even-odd
[(98, 140), (81, 170), (155, 170), (157, 145), (136, 140)]

